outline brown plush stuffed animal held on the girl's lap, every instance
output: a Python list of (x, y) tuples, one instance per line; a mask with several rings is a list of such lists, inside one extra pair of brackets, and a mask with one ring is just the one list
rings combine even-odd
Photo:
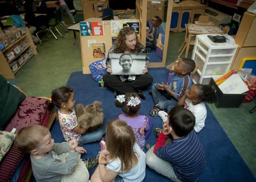
[(97, 130), (104, 120), (103, 110), (99, 108), (101, 104), (99, 101), (94, 101), (86, 107), (83, 104), (76, 104), (75, 111), (78, 126), (88, 129), (87, 131)]

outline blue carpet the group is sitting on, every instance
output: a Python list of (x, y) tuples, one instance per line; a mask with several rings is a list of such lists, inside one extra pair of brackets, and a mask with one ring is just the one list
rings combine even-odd
[[(167, 80), (168, 70), (165, 68), (150, 68), (149, 72), (154, 78), (153, 83)], [(105, 124), (122, 112), (121, 108), (114, 106), (114, 93), (109, 89), (99, 88), (98, 83), (91, 78), (91, 75), (83, 75), (82, 72), (74, 72), (70, 75), (67, 85), (74, 89), (76, 104), (83, 103), (84, 105), (87, 105), (95, 100), (102, 102), (102, 108), (105, 114)], [(154, 105), (152, 96), (148, 95), (149, 89), (150, 88), (144, 92), (146, 94), (146, 100), (142, 100), (142, 108), (139, 112), (139, 114), (147, 116), (149, 116), (148, 111)], [(255, 177), (246, 166), (238, 151), (208, 107), (205, 125), (203, 130), (197, 134), (206, 154), (206, 166), (198, 181), (256, 181)], [(159, 117), (153, 117), (152, 128), (161, 126), (161, 119)], [(60, 131), (59, 121), (54, 122), (51, 128), (51, 133), (55, 142), (64, 142)], [(146, 142), (154, 145), (156, 139), (157, 138), (152, 130)], [(94, 157), (100, 150), (98, 142), (84, 145), (84, 148), (87, 150), (87, 154), (83, 154), (82, 158)], [(94, 170), (95, 168), (89, 171), (90, 175), (93, 174)], [(144, 181), (164, 182), (169, 180), (147, 167)]]

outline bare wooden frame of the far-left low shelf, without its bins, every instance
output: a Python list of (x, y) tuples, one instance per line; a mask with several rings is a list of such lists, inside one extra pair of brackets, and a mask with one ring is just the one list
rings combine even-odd
[[(5, 78), (7, 78), (7, 79), (15, 78), (15, 75), (14, 75), (14, 74), (16, 74), (16, 72), (18, 72), (18, 71), (20, 70), (20, 68), (22, 68), (22, 66), (23, 66), (24, 64), (26, 64), (26, 63), (30, 60), (30, 58), (31, 58), (33, 55), (37, 54), (37, 50), (36, 50), (36, 48), (35, 48), (34, 42), (33, 42), (33, 40), (32, 40), (32, 37), (31, 37), (30, 33), (29, 33), (29, 29), (28, 29), (27, 27), (26, 27), (25, 29), (26, 29), (26, 33), (25, 33), (24, 35), (22, 35), (19, 39), (15, 40), (13, 43), (11, 43), (10, 45), (8, 45), (3, 51), (0, 50), (0, 73), (1, 73)], [(4, 33), (4, 32), (1, 32), (1, 33)], [(6, 51), (9, 50), (10, 48), (15, 47), (16, 45), (18, 45), (18, 43), (19, 43), (21, 40), (25, 40), (25, 39), (26, 39), (26, 40), (28, 41), (28, 43), (29, 43), (28, 46), (26, 46), (25, 48), (23, 48), (23, 49), (19, 52), (19, 54), (17, 54), (17, 55), (15, 56), (14, 59), (12, 59), (10, 62), (7, 62), (7, 59), (6, 59), (5, 56), (4, 56), (5, 54), (7, 54)], [(16, 71), (12, 72), (12, 70), (11, 70), (11, 68), (10, 68), (10, 63), (16, 62), (16, 61), (18, 60), (17, 58), (19, 58), (19, 56), (20, 56), (23, 52), (29, 50), (30, 48), (33, 50), (33, 54), (31, 54), (31, 55), (18, 67), (18, 69), (17, 69)]]

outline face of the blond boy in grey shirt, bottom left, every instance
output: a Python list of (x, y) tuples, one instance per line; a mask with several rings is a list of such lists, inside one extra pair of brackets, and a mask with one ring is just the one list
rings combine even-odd
[(52, 139), (52, 135), (50, 134), (50, 132), (48, 132), (48, 134), (45, 135), (41, 139), (41, 141), (38, 143), (38, 146), (37, 146), (38, 155), (45, 154), (52, 151), (53, 146), (54, 146), (54, 139)]

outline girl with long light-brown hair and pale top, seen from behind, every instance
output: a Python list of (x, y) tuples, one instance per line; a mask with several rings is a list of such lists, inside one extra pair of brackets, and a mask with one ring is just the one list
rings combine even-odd
[(146, 174), (146, 154), (136, 143), (125, 120), (111, 120), (106, 126), (106, 150), (99, 154), (99, 165), (91, 182), (141, 182)]

